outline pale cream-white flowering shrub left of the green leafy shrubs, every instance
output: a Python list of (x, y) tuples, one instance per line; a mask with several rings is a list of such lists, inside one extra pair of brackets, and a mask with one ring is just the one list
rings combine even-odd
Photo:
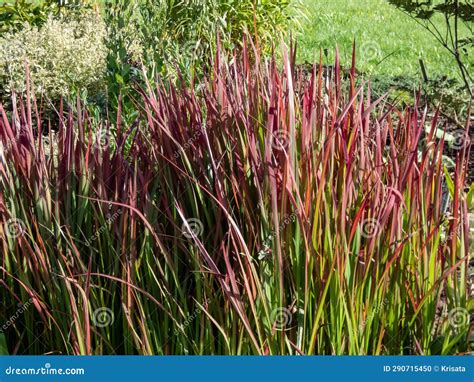
[(6, 33), (0, 37), (0, 93), (26, 90), (26, 62), (36, 94), (54, 100), (72, 90), (97, 92), (106, 75), (105, 38), (105, 23), (92, 10)]

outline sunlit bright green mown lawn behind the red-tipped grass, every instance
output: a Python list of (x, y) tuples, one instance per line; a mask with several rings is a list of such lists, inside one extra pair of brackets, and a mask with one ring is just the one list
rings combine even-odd
[[(327, 49), (327, 62), (339, 47), (344, 64), (350, 64), (352, 42), (357, 44), (358, 69), (378, 76), (421, 79), (419, 58), (430, 78), (459, 79), (450, 54), (432, 35), (386, 0), (302, 0), (306, 18), (298, 37), (300, 59), (312, 62)], [(436, 20), (443, 27), (442, 20)], [(462, 29), (463, 34), (467, 28)]]

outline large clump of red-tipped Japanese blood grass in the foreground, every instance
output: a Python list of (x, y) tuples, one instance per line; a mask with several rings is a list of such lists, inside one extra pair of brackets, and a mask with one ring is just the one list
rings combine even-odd
[(450, 175), (438, 113), (257, 53), (130, 126), (61, 107), (48, 151), (34, 99), (0, 108), (10, 353), (470, 351), (469, 125)]

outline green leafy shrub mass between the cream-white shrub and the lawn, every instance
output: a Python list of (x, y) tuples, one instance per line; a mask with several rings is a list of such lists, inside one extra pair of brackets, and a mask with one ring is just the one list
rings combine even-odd
[(123, 118), (130, 122), (132, 84), (142, 81), (142, 66), (154, 78), (190, 81), (202, 77), (222, 46), (239, 48), (246, 31), (270, 51), (272, 39), (286, 33), (298, 0), (118, 0), (107, 1), (108, 73), (111, 111), (121, 95)]

